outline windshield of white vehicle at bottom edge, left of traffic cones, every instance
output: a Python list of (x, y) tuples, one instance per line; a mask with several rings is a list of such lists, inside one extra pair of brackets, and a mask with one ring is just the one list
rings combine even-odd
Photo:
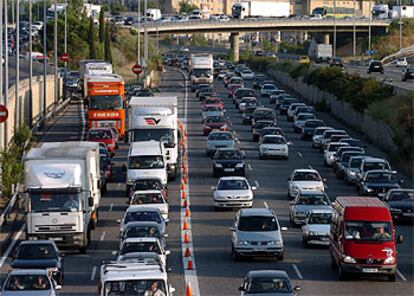
[[(129, 280), (129, 281), (110, 281), (104, 286), (104, 296), (147, 296), (151, 291), (160, 291), (159, 295), (166, 295), (165, 283), (162, 280)], [(161, 294), (161, 292), (163, 294)], [(150, 294), (149, 294), (150, 293)]]

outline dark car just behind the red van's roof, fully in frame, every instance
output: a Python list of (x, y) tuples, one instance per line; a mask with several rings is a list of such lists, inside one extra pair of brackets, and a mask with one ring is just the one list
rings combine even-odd
[(358, 194), (382, 198), (388, 190), (401, 188), (403, 180), (397, 180), (396, 175), (395, 171), (369, 170), (357, 183)]

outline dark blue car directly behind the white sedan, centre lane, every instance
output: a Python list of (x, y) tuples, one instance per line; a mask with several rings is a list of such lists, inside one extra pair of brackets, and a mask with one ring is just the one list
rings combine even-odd
[(245, 154), (239, 149), (218, 149), (213, 157), (213, 177), (217, 178), (223, 175), (244, 176), (246, 168), (245, 158)]

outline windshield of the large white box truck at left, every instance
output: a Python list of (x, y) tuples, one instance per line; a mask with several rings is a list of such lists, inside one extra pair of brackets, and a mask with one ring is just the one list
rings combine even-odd
[(34, 213), (43, 212), (78, 212), (80, 198), (77, 193), (31, 193), (30, 210)]

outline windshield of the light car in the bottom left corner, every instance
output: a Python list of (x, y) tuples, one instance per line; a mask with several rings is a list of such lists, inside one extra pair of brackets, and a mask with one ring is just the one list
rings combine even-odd
[[(11, 275), (4, 285), (6, 291), (50, 290), (49, 279), (45, 275)], [(23, 295), (23, 294), (21, 294)]]

